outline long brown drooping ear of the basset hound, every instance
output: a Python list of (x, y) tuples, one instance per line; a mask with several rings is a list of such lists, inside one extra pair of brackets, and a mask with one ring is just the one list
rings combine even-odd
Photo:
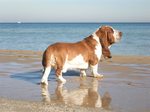
[(112, 58), (111, 52), (109, 50), (109, 43), (108, 43), (108, 33), (104, 28), (100, 28), (100, 43), (102, 45), (102, 54), (104, 58)]

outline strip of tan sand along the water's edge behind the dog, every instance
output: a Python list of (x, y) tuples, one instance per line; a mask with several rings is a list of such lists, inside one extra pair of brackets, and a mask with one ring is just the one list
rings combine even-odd
[[(43, 51), (44, 52), (44, 51)], [(31, 50), (0, 50), (0, 56), (16, 56), (23, 58), (42, 58), (42, 51), (31, 51)], [(116, 63), (134, 63), (134, 64), (150, 64), (150, 56), (138, 56), (138, 55), (113, 55), (112, 59), (102, 59), (101, 62), (116, 62)]]

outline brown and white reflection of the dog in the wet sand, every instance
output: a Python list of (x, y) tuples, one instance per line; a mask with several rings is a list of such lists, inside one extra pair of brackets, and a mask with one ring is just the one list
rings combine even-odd
[[(111, 97), (108, 92), (101, 98), (98, 92), (98, 80), (96, 78), (89, 80), (81, 79), (79, 88), (67, 90), (62, 83), (57, 83), (55, 90), (56, 101), (65, 104), (75, 104), (88, 107), (109, 108)], [(87, 83), (88, 82), (88, 83)], [(90, 82), (90, 83), (89, 83)], [(50, 103), (51, 98), (47, 85), (41, 85), (43, 101)], [(54, 101), (55, 102), (55, 101)]]

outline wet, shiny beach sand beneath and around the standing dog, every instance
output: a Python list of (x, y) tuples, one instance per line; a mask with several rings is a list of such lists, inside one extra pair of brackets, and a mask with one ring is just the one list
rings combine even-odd
[(40, 85), (42, 52), (0, 50), (0, 110), (3, 112), (149, 112), (150, 57), (113, 56), (102, 59), (103, 79), (80, 78), (78, 71)]

